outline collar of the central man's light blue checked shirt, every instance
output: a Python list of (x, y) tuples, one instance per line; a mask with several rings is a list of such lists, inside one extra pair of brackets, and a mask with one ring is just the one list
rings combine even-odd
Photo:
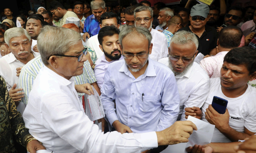
[[(131, 73), (129, 71), (128, 66), (126, 65), (126, 63), (124, 63), (123, 66), (119, 69), (119, 72), (125, 72), (125, 74), (128, 75), (128, 76), (129, 76), (129, 73)], [(156, 76), (154, 64), (153, 64), (153, 61), (151, 60), (150, 57), (148, 57), (148, 65), (147, 65), (147, 68), (146, 68), (146, 70), (143, 74), (142, 79), (145, 78), (146, 76), (148, 76), (148, 77)]]

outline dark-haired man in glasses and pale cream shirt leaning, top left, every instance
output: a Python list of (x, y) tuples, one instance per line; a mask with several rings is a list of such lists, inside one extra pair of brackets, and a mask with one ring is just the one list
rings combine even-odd
[(65, 7), (58, 1), (52, 1), (49, 6), (49, 10), (54, 14), (56, 17), (60, 18), (60, 27), (66, 24), (66, 19), (68, 17), (77, 17), (77, 15), (72, 11), (67, 11)]

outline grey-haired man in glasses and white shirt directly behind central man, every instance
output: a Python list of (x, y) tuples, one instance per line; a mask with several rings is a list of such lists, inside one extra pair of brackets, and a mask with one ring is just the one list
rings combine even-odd
[(168, 56), (167, 39), (165, 35), (152, 28), (153, 10), (148, 6), (139, 6), (134, 10), (135, 27), (145, 27), (152, 35), (152, 53), (150, 58), (158, 61)]

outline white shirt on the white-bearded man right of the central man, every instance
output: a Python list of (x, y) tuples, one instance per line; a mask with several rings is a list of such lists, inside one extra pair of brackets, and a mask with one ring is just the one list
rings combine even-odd
[[(158, 62), (169, 66), (169, 57), (162, 58)], [(183, 75), (175, 75), (180, 94), (180, 113), (177, 121), (185, 118), (186, 107), (201, 108), (209, 93), (210, 78), (196, 62), (193, 63)]]

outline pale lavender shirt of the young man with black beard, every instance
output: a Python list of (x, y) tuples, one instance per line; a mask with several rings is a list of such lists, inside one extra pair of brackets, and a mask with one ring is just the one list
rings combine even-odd
[[(122, 60), (124, 59), (123, 56), (121, 56), (118, 60)], [(115, 60), (115, 61), (118, 61), (118, 60)], [(95, 74), (95, 78), (97, 80), (97, 84), (99, 86), (99, 88), (101, 89), (102, 85), (103, 85), (103, 82), (104, 82), (104, 75), (105, 75), (105, 72), (107, 70), (107, 68), (109, 67), (109, 64), (110, 63), (113, 63), (115, 61), (111, 61), (111, 62), (108, 62), (106, 60), (106, 57), (105, 57), (105, 54), (102, 55), (95, 63), (95, 68), (94, 68), (94, 74)]]

